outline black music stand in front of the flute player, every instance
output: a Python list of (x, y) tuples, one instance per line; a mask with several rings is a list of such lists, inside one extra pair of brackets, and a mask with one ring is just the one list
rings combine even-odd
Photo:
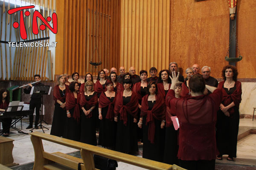
[[(50, 87), (49, 85), (37, 85), (37, 86), (32, 86), (31, 92), (30, 94), (41, 94), (41, 110), (40, 110), (40, 128), (43, 130), (43, 128), (46, 128), (47, 130), (49, 130), (47, 127), (42, 125), (42, 122), (44, 121), (43, 119), (43, 105), (44, 105), (44, 95), (49, 95), (51, 93), (51, 89), (52, 87)], [(44, 121), (45, 122), (45, 121)], [(47, 122), (45, 122), (47, 125), (49, 125)], [(32, 130), (34, 130), (35, 128), (29, 130), (32, 132)]]

